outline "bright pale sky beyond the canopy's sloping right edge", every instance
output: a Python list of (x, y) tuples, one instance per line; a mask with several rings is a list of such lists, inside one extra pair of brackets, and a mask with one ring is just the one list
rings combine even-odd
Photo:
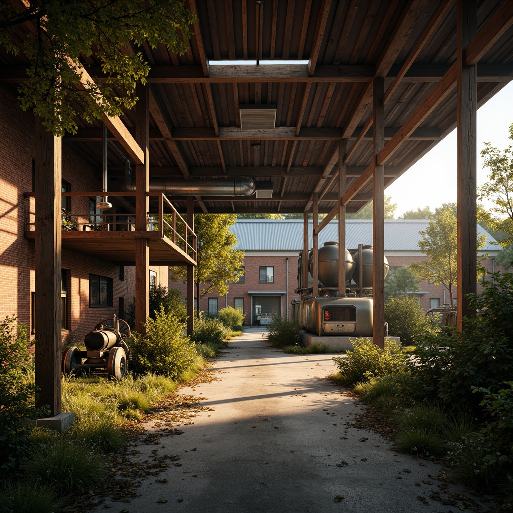
[[(503, 150), (513, 144), (509, 127), (513, 124), (513, 82), (503, 87), (478, 110), (478, 188), (486, 183), (489, 170), (483, 169), (481, 150), (485, 143)], [(429, 153), (387, 187), (385, 195), (397, 204), (396, 218), (407, 210), (457, 202), (457, 133), (453, 130)], [(490, 203), (483, 202), (485, 208)]]

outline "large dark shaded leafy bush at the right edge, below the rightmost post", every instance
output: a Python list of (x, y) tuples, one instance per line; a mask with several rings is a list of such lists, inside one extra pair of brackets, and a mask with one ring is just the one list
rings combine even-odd
[[(418, 398), (441, 400), (450, 408), (465, 407), (480, 415), (486, 392), (498, 393), (513, 376), (513, 275), (495, 274), (481, 295), (469, 294), (481, 313), (467, 319), (464, 332), (438, 333), (419, 344), (410, 362)], [(472, 393), (472, 387), (478, 390)], [(474, 389), (475, 390), (475, 389)]]

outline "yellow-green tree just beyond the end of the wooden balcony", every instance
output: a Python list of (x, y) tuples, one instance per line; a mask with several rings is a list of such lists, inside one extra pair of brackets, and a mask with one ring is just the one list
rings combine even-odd
[[(228, 293), (230, 282), (241, 275), (244, 264), (244, 251), (233, 249), (237, 237), (230, 232), (237, 219), (235, 214), (197, 214), (194, 216), (194, 232), (198, 236), (198, 265), (194, 268), (196, 298), (198, 298), (198, 318), (200, 300), (214, 290), (218, 295)], [(186, 277), (186, 267), (169, 268), (172, 281)]]

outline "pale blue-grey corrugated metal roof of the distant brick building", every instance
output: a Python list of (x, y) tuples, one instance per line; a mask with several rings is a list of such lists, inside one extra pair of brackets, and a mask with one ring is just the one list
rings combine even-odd
[[(429, 221), (385, 220), (385, 252), (419, 251), (420, 231), (425, 231)], [(319, 247), (325, 242), (338, 241), (338, 221), (331, 221), (319, 234)], [(495, 239), (480, 225), (479, 234), (486, 235), (483, 251), (498, 251), (500, 246), (491, 245)], [(303, 249), (303, 221), (281, 219), (238, 220), (231, 228), (237, 236), (236, 249), (244, 251), (301, 251)], [(372, 221), (346, 221), (346, 248), (359, 244), (372, 245)], [(308, 226), (308, 247), (312, 247), (312, 222)]]

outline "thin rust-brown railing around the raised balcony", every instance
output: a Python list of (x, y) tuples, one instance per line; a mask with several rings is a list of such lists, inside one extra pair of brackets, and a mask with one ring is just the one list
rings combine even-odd
[[(96, 209), (97, 198), (104, 193), (98, 192), (63, 192), (63, 198), (74, 198), (71, 210), (62, 210), (61, 223), (63, 231), (136, 231), (135, 192), (109, 192), (112, 208), (109, 211)], [(146, 213), (146, 230), (158, 232), (161, 239), (169, 239), (194, 261), (197, 258), (198, 239), (196, 234), (174, 208), (162, 192), (147, 192), (149, 211)], [(25, 197), (25, 231), (35, 231), (35, 195), (24, 193)], [(131, 201), (130, 201), (131, 200)], [(64, 202), (63, 202), (64, 203)], [(94, 203), (94, 209), (87, 205)], [(76, 205), (76, 207), (75, 207)]]

